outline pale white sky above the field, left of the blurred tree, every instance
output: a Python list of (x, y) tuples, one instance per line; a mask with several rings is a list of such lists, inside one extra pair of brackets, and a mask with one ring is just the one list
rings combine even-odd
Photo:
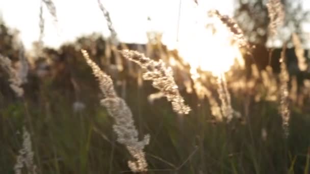
[[(186, 39), (193, 35), (197, 20), (203, 20), (208, 9), (216, 8), (222, 13), (233, 13), (234, 0), (198, 1), (182, 0), (179, 37)], [(97, 0), (53, 0), (58, 15), (58, 26), (43, 7), (45, 35), (43, 41), (49, 46), (59, 46), (72, 41), (76, 36), (102, 33), (110, 35), (107, 22), (98, 8)], [(110, 12), (115, 30), (123, 42), (146, 42), (146, 31), (153, 29), (163, 32), (163, 42), (173, 45), (176, 40), (179, 0), (101, 0)], [(309, 4), (310, 0), (305, 0)], [(305, 5), (306, 5), (305, 4)], [(20, 31), (20, 38), (27, 48), (39, 38), (40, 0), (2, 0), (0, 12), (5, 22)], [(150, 17), (151, 22), (147, 21)], [(310, 29), (309, 29), (310, 30)]]

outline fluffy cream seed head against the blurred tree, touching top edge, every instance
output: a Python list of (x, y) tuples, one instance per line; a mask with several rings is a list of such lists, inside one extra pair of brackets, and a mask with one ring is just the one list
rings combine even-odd
[(269, 0), (267, 3), (270, 36), (274, 36), (277, 33), (277, 28), (282, 26), (285, 18), (284, 7), (280, 0)]

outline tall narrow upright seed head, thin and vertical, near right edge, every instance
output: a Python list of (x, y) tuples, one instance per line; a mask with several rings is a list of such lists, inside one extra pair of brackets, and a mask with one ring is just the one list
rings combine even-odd
[(289, 121), (290, 121), (290, 109), (289, 109), (289, 88), (288, 82), (290, 80), (287, 65), (285, 63), (285, 49), (281, 52), (280, 59), (280, 112), (282, 117), (282, 127), (285, 137), (289, 135)]

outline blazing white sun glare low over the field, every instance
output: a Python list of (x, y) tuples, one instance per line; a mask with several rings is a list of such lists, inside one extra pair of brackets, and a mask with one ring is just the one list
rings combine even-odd
[(191, 36), (178, 42), (177, 50), (192, 73), (197, 69), (219, 76), (236, 61), (243, 66), (242, 54), (227, 28), (220, 21), (212, 21), (214, 28), (198, 25)]

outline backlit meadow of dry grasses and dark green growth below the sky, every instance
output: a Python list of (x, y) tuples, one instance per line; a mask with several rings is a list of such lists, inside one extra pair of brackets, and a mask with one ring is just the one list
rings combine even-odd
[[(42, 41), (43, 6), (57, 24), (43, 0), (35, 52), (0, 23), (0, 173), (310, 173), (310, 38), (292, 33), (269, 49), (214, 9), (213, 29), (230, 39), (213, 42), (215, 53), (205, 47), (214, 61), (197, 64), (158, 33), (120, 43), (98, 0), (111, 37), (53, 49)], [(264, 7), (272, 37), (286, 8)]]

